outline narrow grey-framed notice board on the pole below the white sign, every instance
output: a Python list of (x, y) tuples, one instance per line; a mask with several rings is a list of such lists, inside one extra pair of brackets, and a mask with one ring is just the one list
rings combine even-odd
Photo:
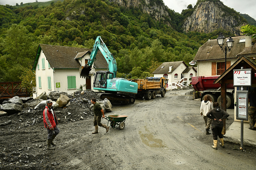
[(237, 91), (237, 119), (248, 120), (248, 91)]

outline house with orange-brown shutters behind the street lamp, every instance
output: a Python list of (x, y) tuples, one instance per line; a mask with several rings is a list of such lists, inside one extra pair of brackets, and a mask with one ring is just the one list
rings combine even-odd
[[(234, 46), (230, 52), (227, 52), (227, 69), (237, 61), (238, 54), (244, 51), (246, 44), (251, 46), (252, 43), (249, 36), (234, 36), (232, 38)], [(225, 42), (227, 39), (225, 39)], [(204, 43), (198, 49), (194, 61), (197, 62), (198, 76), (217, 76), (225, 72), (225, 53), (219, 47), (217, 39), (209, 39)]]

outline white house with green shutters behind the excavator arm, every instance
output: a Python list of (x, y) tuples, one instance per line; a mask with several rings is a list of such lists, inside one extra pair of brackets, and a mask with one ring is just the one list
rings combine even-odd
[(47, 94), (50, 91), (63, 91), (69, 94), (79, 88), (92, 89), (94, 73), (107, 70), (108, 64), (101, 52), (98, 52), (89, 77), (80, 78), (79, 67), (88, 62), (90, 50), (40, 44), (32, 69), (36, 74), (33, 97), (44, 91)]

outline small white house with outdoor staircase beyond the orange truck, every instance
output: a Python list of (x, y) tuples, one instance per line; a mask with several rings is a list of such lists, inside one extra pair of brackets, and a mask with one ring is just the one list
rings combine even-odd
[(162, 63), (155, 71), (154, 77), (165, 77), (167, 79), (166, 88), (183, 88), (191, 82), (192, 76), (197, 76), (197, 70), (194, 67), (188, 67), (184, 61)]

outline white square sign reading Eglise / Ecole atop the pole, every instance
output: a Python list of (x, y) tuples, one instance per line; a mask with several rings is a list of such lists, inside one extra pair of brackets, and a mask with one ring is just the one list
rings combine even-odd
[(235, 86), (251, 86), (252, 69), (237, 69), (234, 71), (233, 85)]

